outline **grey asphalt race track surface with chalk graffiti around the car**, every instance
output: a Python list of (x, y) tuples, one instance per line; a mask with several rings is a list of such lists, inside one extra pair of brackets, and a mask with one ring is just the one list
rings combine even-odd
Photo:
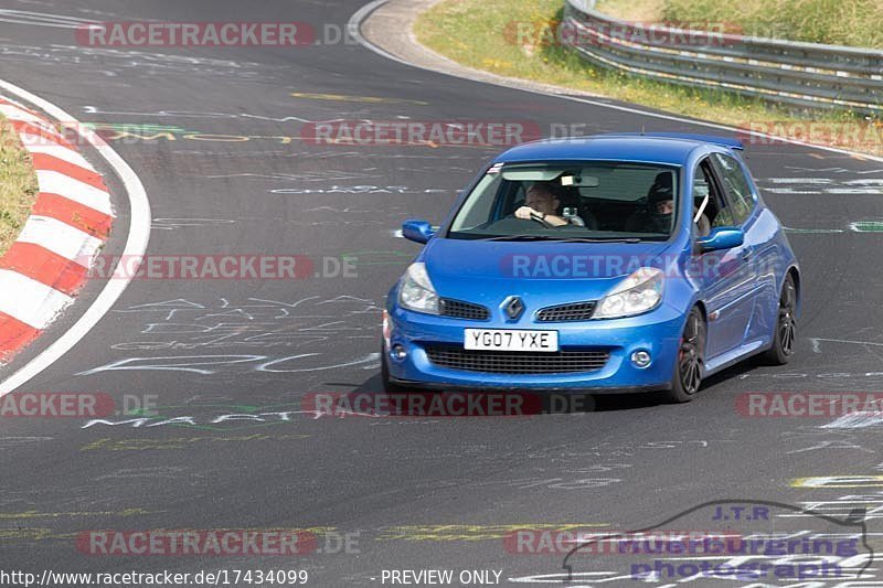
[[(9, 0), (7, 8), (343, 29), (363, 3), (265, 0), (244, 10), (230, 0)], [(547, 586), (539, 576), (562, 574), (563, 554), (512, 553), (509, 532), (646, 528), (720, 500), (839, 517), (866, 507), (871, 543), (881, 536), (883, 418), (748, 418), (736, 399), (883, 385), (883, 235), (850, 228), (883, 216), (883, 164), (791, 145), (748, 148), (802, 266), (797, 356), (786, 367), (738, 366), (682, 406), (634, 396), (533, 418), (312, 418), (299, 413), (308, 393), (380, 389), (383, 299), (418, 250), (394, 231), (411, 217), (440, 222), (501, 148), (317, 146), (299, 138), (306, 122), (409, 117), (529, 120), (546, 133), (572, 122), (588, 132), (708, 129), (435, 74), (355, 43), (84, 47), (70, 28), (3, 13), (0, 78), (83, 122), (125, 125), (137, 136), (111, 147), (147, 189), (148, 254), (358, 259), (351, 278), (134, 280), (76, 346), (20, 391), (98, 391), (117, 406), (152, 403), (164, 418), (143, 426), (131, 415), (92, 424), (1, 419), (0, 569), (305, 569), (308, 585), (321, 587), (382, 585), (391, 569), (499, 570), (500, 584)], [(120, 220), (106, 253), (118, 253), (130, 222), (125, 192), (103, 160), (86, 156), (116, 197)], [(91, 281), (0, 379), (63, 333), (100, 287)], [(243, 417), (256, 414), (264, 416)], [(765, 531), (830, 523), (781, 509)], [(666, 526), (716, 528), (710, 525), (693, 516)], [(77, 547), (84, 532), (158, 528), (312, 530), (321, 553), (145, 557)], [(572, 586), (620, 585), (598, 581), (616, 566), (579, 557), (574, 570), (598, 575)]]

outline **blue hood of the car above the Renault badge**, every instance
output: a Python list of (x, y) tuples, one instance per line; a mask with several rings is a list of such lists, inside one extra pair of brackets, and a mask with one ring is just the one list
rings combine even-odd
[(432, 239), (418, 261), (443, 298), (543, 304), (595, 300), (638, 267), (666, 267), (669, 243), (553, 243)]

